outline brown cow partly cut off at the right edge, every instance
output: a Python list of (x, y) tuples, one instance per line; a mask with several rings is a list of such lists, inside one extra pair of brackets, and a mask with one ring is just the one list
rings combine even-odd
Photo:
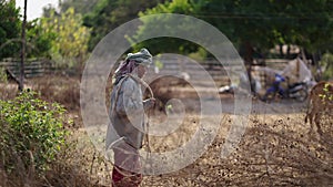
[(333, 111), (333, 82), (320, 82), (314, 85), (309, 95), (309, 105), (305, 115), (305, 123), (310, 120), (311, 128), (313, 128), (313, 121), (316, 125), (317, 133), (322, 135), (320, 124), (321, 115), (323, 112)]

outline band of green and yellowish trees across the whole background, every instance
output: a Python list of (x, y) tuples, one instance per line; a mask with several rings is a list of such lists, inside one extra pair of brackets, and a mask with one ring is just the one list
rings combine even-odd
[[(333, 51), (332, 9), (333, 3), (323, 0), (64, 0), (59, 1), (59, 9), (46, 7), (42, 18), (28, 22), (27, 56), (49, 58), (60, 67), (80, 66), (97, 43), (122, 23), (153, 13), (181, 13), (216, 27), (246, 63), (272, 56), (270, 50), (276, 45), (297, 45), (319, 67), (322, 55)], [(0, 59), (18, 58), (22, 15), (13, 0), (1, 0), (0, 10)], [(154, 30), (149, 22), (137, 37)], [(209, 55), (191, 42), (165, 38), (138, 43), (132, 50), (143, 45), (154, 55), (163, 52)], [(294, 56), (282, 53), (281, 48), (279, 58)]]

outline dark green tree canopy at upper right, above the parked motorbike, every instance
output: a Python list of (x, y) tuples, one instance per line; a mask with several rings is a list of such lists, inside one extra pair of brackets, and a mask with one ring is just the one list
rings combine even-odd
[[(224, 33), (240, 49), (242, 56), (252, 58), (252, 49), (268, 52), (275, 44), (296, 44), (310, 52), (326, 49), (333, 39), (332, 9), (333, 3), (323, 0), (304, 3), (278, 0), (173, 0), (148, 9), (140, 15), (182, 13), (196, 17)], [(149, 22), (144, 27), (138, 31), (138, 37), (155, 30)], [(147, 41), (141, 45), (150, 44)], [(168, 50), (191, 48), (188, 43), (182, 46), (179, 43), (165, 45)]]

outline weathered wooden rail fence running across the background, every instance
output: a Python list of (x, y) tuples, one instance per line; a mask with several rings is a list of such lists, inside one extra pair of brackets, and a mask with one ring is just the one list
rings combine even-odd
[[(163, 71), (163, 74), (168, 75), (182, 75), (182, 73), (186, 73), (191, 80), (195, 80), (199, 84), (204, 85), (205, 79), (205, 70), (210, 76), (216, 83), (216, 86), (228, 85), (230, 84), (230, 76), (228, 72), (233, 70), (241, 70), (241, 66), (236, 66), (232, 63), (228, 65), (222, 65), (216, 60), (206, 60), (204, 62), (200, 62), (200, 65), (191, 62), (189, 59), (182, 58), (172, 58), (164, 56), (160, 59), (163, 64), (160, 71)], [(290, 60), (285, 59), (268, 59), (265, 60), (264, 66), (282, 70)], [(256, 66), (252, 66), (252, 74), (260, 79), (261, 84), (264, 86), (266, 83), (266, 75), (261, 71), (256, 71)], [(262, 66), (262, 65), (261, 65)], [(20, 75), (20, 60), (19, 59), (4, 59), (0, 61), (0, 67), (4, 70), (9, 70), (13, 76), (19, 77)], [(24, 62), (24, 77), (37, 77), (43, 76), (46, 74), (54, 71), (53, 63), (50, 60), (46, 59), (28, 59)]]

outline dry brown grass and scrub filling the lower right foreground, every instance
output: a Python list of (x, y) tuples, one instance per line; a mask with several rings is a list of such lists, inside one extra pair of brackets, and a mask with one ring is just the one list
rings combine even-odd
[(226, 159), (220, 156), (222, 129), (195, 163), (176, 173), (145, 177), (142, 186), (332, 186), (332, 134), (309, 133), (303, 117), (252, 115), (236, 152)]

